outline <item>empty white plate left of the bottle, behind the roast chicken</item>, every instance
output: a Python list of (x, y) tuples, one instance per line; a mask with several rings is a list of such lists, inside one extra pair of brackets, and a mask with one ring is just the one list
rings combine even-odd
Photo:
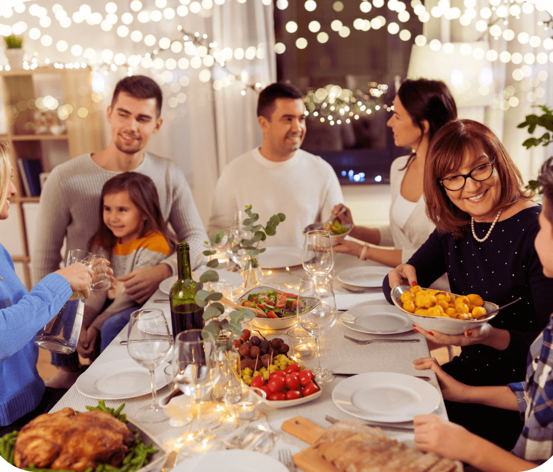
[[(161, 363), (154, 371), (155, 389), (167, 385), (163, 369), (168, 364)], [(103, 400), (134, 398), (152, 393), (148, 369), (138, 365), (133, 359), (121, 359), (93, 364), (75, 382), (82, 395)]]

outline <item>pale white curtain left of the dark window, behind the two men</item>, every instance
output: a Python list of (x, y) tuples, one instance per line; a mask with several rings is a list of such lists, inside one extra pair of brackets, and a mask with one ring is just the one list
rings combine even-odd
[[(90, 10), (85, 6), (83, 9), (81, 3), (85, 2), (25, 2), (24, 8), (16, 7), (9, 11), (9, 17), (0, 16), (0, 34), (6, 33), (6, 27), (12, 28), (16, 23), (24, 22), (25, 53), (29, 58), (34, 55), (39, 65), (45, 65), (46, 59), (50, 64), (90, 65), (103, 99), (93, 103), (90, 97), (83, 97), (83, 101), (87, 106), (101, 109), (109, 105), (115, 83), (129, 73), (127, 65), (132, 59), (152, 54), (154, 61), (151, 66), (142, 61), (133, 64), (131, 71), (132, 74), (153, 77), (160, 83), (164, 94), (161, 113), (164, 123), (159, 133), (152, 137), (147, 150), (173, 159), (185, 172), (202, 220), (207, 223), (213, 189), (221, 169), (228, 161), (261, 141), (255, 115), (257, 91), (249, 86), (255, 87), (257, 83), (258, 88), (265, 87), (276, 80), (272, 2), (141, 0), (138, 10), (131, 8), (136, 2), (130, 0), (94, 0), (88, 2)], [(113, 3), (117, 8), (109, 16), (108, 13), (113, 12)], [(43, 11), (40, 12), (36, 6), (31, 8), (33, 4), (43, 8)], [(203, 6), (198, 11), (195, 6), (200, 5)], [(100, 23), (89, 24), (86, 18), (82, 20), (79, 15), (76, 18), (81, 21), (76, 21), (74, 14), (79, 11), (86, 18), (96, 14), (96, 21), (100, 18)], [(125, 13), (132, 15), (131, 22), (126, 18), (123, 22)], [(41, 23), (41, 18), (45, 16), (50, 22), (43, 19)], [(69, 25), (65, 17), (71, 20)], [(113, 23), (111, 28), (107, 25), (109, 22)], [(120, 27), (123, 31), (128, 28), (126, 35), (119, 34)], [(31, 34), (33, 28), (35, 30)], [(133, 32), (140, 32), (142, 37), (133, 40)], [(189, 41), (197, 35), (207, 49), (200, 53), (199, 50), (190, 53), (186, 47), (178, 52), (160, 49), (163, 38), (180, 40), (185, 44), (185, 34)], [(51, 40), (44, 40), (45, 35), (50, 36)], [(148, 35), (153, 36), (155, 44), (145, 44)], [(58, 49), (59, 41), (65, 41), (65, 49), (63, 46)], [(196, 43), (196, 46), (199, 44)], [(230, 52), (224, 67), (217, 61), (211, 65), (204, 60), (212, 46), (219, 51), (224, 49)], [(155, 48), (158, 54), (153, 55)], [(110, 65), (117, 62), (117, 54), (124, 56), (124, 64), (117, 67), (114, 64), (113, 70)], [(193, 63), (194, 57), (199, 58), (199, 63)], [(167, 62), (171, 58), (175, 60), (173, 64)], [(186, 58), (189, 64), (178, 62), (182, 58)], [(0, 65), (5, 64), (0, 55)], [(181, 66), (185, 65), (187, 67), (182, 69)], [(207, 81), (205, 76), (202, 77), (204, 71), (211, 72), (211, 78)], [(225, 86), (219, 87), (221, 82), (217, 80), (225, 81)], [(216, 90), (214, 85), (220, 90)], [(243, 90), (246, 90), (245, 95), (242, 95)], [(107, 123), (105, 127), (106, 139), (109, 139)]]

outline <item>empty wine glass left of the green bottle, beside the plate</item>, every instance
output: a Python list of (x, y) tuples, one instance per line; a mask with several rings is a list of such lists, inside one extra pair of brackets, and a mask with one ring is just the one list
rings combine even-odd
[(150, 371), (152, 405), (143, 406), (135, 413), (137, 421), (159, 423), (168, 417), (158, 405), (155, 394), (154, 370), (171, 352), (173, 338), (163, 311), (156, 308), (131, 313), (127, 351), (138, 364)]

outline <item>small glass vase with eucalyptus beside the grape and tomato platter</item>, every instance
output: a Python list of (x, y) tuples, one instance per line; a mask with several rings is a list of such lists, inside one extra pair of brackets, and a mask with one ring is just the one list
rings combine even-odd
[(222, 402), (225, 394), (242, 395), (242, 380), (240, 377), (240, 354), (234, 347), (234, 336), (229, 331), (223, 331), (215, 338), (217, 358), (221, 371), (221, 379), (213, 385), (211, 399)]

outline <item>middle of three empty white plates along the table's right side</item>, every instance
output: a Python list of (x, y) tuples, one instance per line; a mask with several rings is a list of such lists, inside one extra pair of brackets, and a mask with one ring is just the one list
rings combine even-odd
[(353, 331), (370, 334), (405, 333), (413, 329), (413, 322), (389, 303), (362, 303), (342, 313), (342, 324)]

